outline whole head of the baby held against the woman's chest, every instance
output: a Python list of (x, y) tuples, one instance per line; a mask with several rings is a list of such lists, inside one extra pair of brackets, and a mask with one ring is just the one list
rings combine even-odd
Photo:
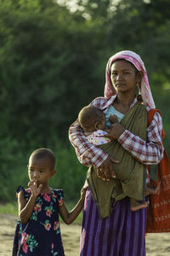
[(78, 114), (78, 120), (84, 132), (105, 130), (105, 114), (100, 108), (86, 106)]

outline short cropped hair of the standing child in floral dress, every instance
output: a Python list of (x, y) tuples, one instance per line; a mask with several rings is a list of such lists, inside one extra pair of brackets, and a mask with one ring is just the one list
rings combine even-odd
[(48, 148), (37, 148), (31, 153), (30, 159), (31, 158), (36, 158), (36, 159), (44, 159), (48, 158), (51, 163), (51, 169), (54, 169), (55, 166), (55, 155), (54, 152)]

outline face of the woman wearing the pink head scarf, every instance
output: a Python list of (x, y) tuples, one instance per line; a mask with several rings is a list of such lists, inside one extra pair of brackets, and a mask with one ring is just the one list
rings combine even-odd
[(117, 93), (134, 93), (139, 81), (133, 64), (125, 60), (114, 61), (111, 66), (111, 82)]

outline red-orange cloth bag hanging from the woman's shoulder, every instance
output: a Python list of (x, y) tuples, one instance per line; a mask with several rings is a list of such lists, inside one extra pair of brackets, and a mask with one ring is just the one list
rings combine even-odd
[[(159, 110), (150, 109), (148, 113), (148, 124)], [(161, 113), (160, 113), (161, 114)], [(162, 131), (162, 138), (165, 136)], [(150, 205), (147, 211), (146, 233), (170, 232), (170, 160), (164, 150), (161, 162), (157, 165), (157, 170), (150, 169), (150, 185), (157, 187), (156, 195), (150, 195)]]

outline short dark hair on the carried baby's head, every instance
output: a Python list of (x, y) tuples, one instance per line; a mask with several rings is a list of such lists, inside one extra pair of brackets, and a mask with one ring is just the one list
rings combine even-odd
[(78, 120), (80, 125), (92, 125), (95, 122), (100, 123), (103, 119), (105, 119), (105, 114), (100, 108), (96, 108), (94, 106), (86, 106), (82, 108), (82, 110), (78, 114)]

